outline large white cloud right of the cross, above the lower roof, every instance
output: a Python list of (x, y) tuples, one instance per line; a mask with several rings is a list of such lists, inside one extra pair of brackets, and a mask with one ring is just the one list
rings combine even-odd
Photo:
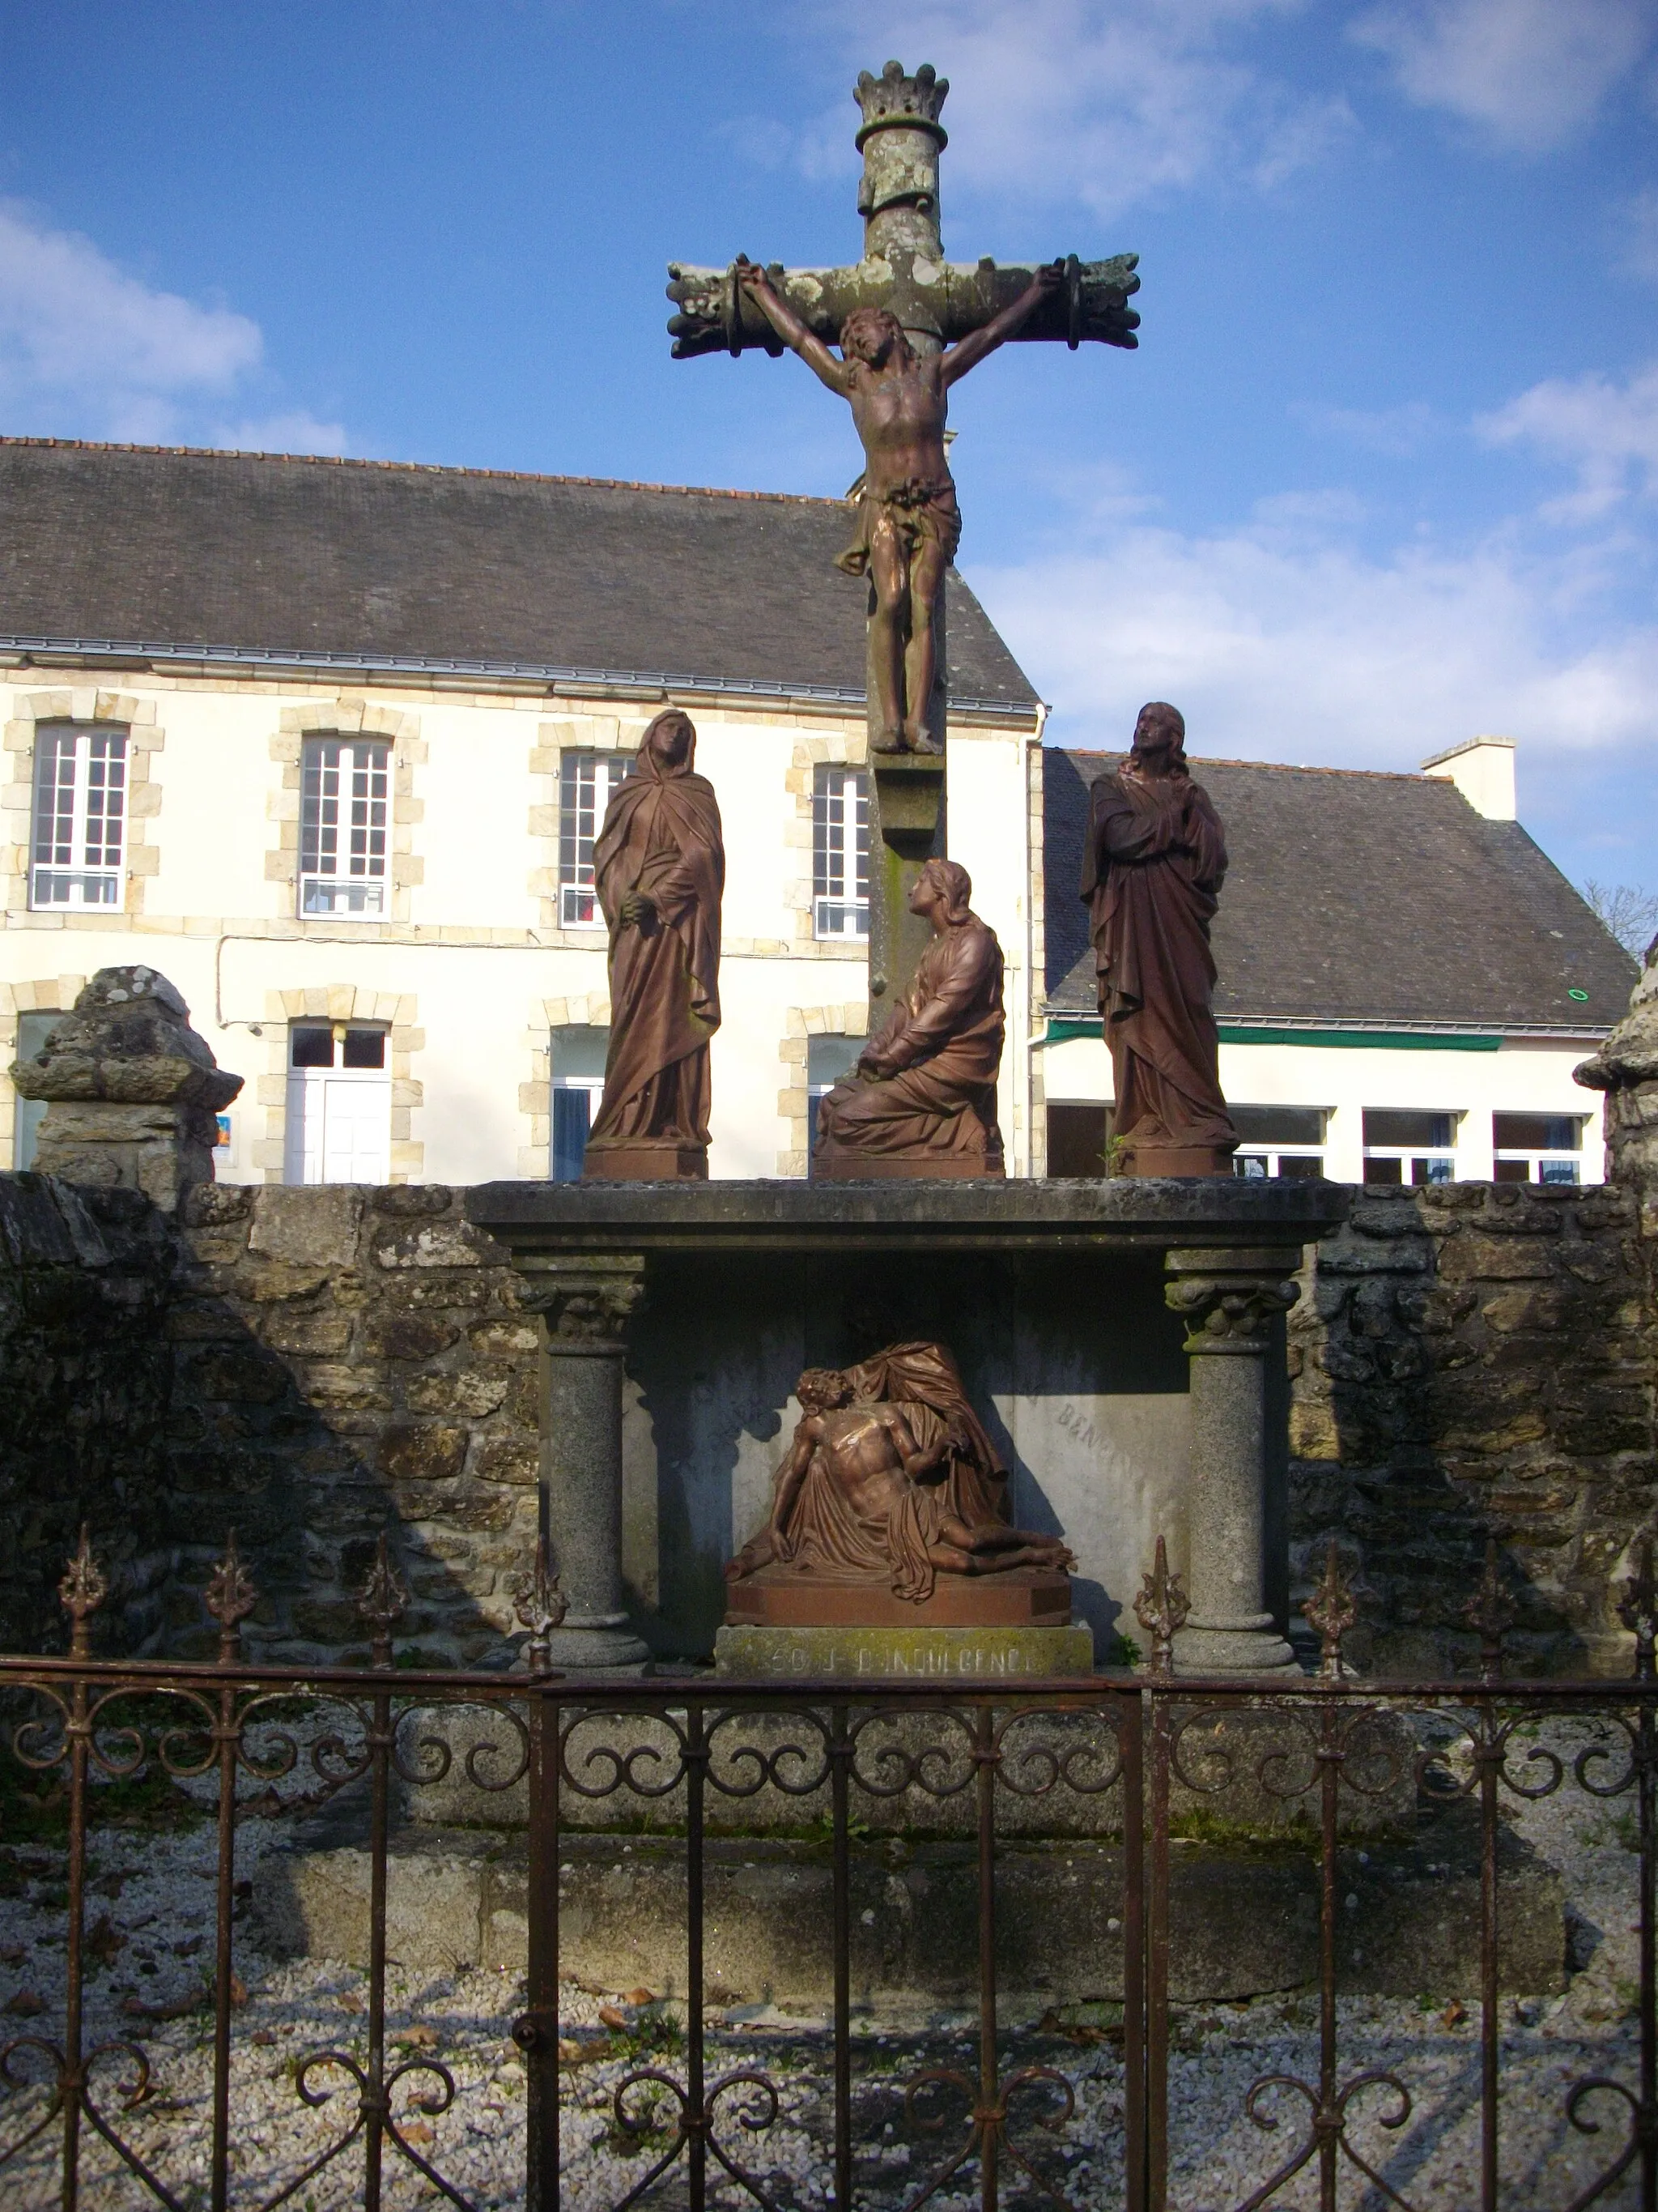
[(1284, 531), (1130, 526), (1088, 553), (970, 564), (1072, 745), (1123, 743), (1174, 699), (1211, 757), (1415, 768), (1477, 730), (1601, 748), (1651, 737), (1658, 624), (1585, 622), (1572, 564), (1505, 533), (1371, 560)]

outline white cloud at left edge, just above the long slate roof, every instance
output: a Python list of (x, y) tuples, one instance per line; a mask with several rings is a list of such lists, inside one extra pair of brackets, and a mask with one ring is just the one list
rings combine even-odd
[(303, 409), (217, 425), (225, 400), (256, 392), (263, 352), (250, 316), (159, 292), (91, 239), (0, 201), (0, 427), (338, 453), (343, 427)]

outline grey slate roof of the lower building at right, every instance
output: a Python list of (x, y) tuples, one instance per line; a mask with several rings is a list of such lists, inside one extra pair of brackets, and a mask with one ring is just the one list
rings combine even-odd
[[(1092, 1013), (1077, 896), (1088, 790), (1121, 752), (1043, 752), (1050, 1013)], [(1227, 830), (1216, 1013), (1605, 1029), (1636, 962), (1519, 823), (1439, 776), (1192, 761)], [(1572, 989), (1587, 991), (1574, 1000)]]

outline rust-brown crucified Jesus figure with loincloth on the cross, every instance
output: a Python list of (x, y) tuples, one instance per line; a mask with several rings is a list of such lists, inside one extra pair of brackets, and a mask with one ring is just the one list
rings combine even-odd
[(1066, 263), (1039, 268), (1026, 290), (990, 323), (940, 354), (917, 354), (889, 307), (853, 307), (840, 325), (840, 358), (765, 270), (736, 263), (736, 281), (772, 330), (851, 407), (864, 442), (858, 533), (838, 566), (873, 586), (871, 659), (880, 695), (878, 752), (942, 752), (926, 730), (937, 646), (933, 613), (962, 538), (955, 482), (944, 458), (946, 394), (997, 345), (1017, 336), (1050, 294), (1066, 285)]

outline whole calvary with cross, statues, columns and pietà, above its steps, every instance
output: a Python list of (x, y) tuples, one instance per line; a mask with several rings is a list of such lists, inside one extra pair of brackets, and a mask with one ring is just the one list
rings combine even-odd
[(544, 1316), (566, 1668), (648, 1659), (623, 1573), (641, 1515), (681, 1533), (652, 1537), (650, 1573), (707, 1577), (692, 1606), (738, 1674), (1088, 1672), (1158, 1537), (1189, 1590), (1176, 1666), (1293, 1663), (1282, 1314), (1349, 1201), (1229, 1175), (1225, 841), (1174, 708), (1101, 781), (1083, 880), (1127, 1172), (1004, 1177), (1001, 949), (946, 856), (946, 394), (1008, 341), (1134, 345), (1138, 279), (1132, 254), (946, 263), (944, 93), (898, 62), (858, 80), (856, 265), (672, 268), (681, 358), (794, 349), (864, 445), (842, 566), (871, 586), (875, 1018), (820, 1102), (811, 1183), (705, 1179), (725, 863), (694, 730), (659, 714), (595, 854), (612, 1040), (586, 1179), (466, 1201)]

